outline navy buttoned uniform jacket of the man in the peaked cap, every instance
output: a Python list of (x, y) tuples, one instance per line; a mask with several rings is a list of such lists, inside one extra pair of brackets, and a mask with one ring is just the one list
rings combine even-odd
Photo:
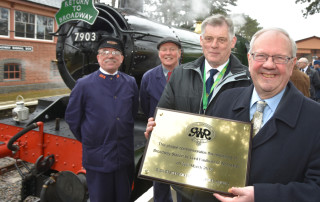
[(119, 72), (112, 77), (97, 70), (73, 88), (65, 120), (82, 143), (82, 164), (113, 172), (134, 164), (133, 127), (139, 106), (135, 79)]

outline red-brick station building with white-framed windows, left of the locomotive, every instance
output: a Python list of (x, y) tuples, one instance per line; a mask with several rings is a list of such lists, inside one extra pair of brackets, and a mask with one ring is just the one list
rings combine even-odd
[(0, 1), (1, 93), (66, 88), (56, 65), (55, 14), (62, 0)]

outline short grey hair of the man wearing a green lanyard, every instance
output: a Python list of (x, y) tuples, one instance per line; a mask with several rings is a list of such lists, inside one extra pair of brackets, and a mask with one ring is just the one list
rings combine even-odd
[(215, 15), (212, 15), (210, 17), (207, 17), (202, 22), (202, 24), (201, 24), (201, 35), (203, 36), (207, 25), (221, 26), (224, 23), (227, 24), (229, 37), (230, 37), (230, 39), (232, 39), (235, 36), (233, 21), (231, 20), (230, 17), (224, 16), (224, 15), (221, 15), (221, 14), (215, 14)]

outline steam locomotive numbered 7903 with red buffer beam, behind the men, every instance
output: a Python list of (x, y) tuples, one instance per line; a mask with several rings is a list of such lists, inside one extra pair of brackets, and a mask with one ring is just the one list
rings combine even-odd
[[(199, 35), (192, 31), (156, 23), (130, 9), (115, 9), (105, 4), (95, 4), (95, 7), (99, 15), (92, 25), (70, 21), (55, 33), (59, 72), (70, 89), (77, 79), (99, 68), (97, 47), (107, 36), (116, 37), (125, 44), (125, 60), (120, 71), (134, 76), (138, 85), (144, 72), (160, 64), (156, 44), (163, 37), (181, 41), (181, 63), (202, 54)], [(233, 51), (244, 64), (247, 64), (247, 46), (247, 41), (238, 36)], [(64, 121), (67, 104), (68, 96), (40, 99), (28, 119), (21, 118), (23, 112), (18, 111), (15, 119), (0, 120), (0, 158), (10, 156), (34, 165), (27, 173), (17, 167), (22, 176), (22, 200), (30, 195), (40, 197), (41, 201), (88, 200), (81, 143)], [(144, 151), (145, 126), (146, 117), (139, 113), (134, 132), (136, 172)], [(151, 182), (135, 177), (132, 201), (151, 185)]]

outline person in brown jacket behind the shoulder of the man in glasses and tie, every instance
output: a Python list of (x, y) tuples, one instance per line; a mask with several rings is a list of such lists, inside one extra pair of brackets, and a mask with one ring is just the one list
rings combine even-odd
[(304, 96), (310, 97), (310, 79), (296, 65), (293, 68), (290, 81)]

